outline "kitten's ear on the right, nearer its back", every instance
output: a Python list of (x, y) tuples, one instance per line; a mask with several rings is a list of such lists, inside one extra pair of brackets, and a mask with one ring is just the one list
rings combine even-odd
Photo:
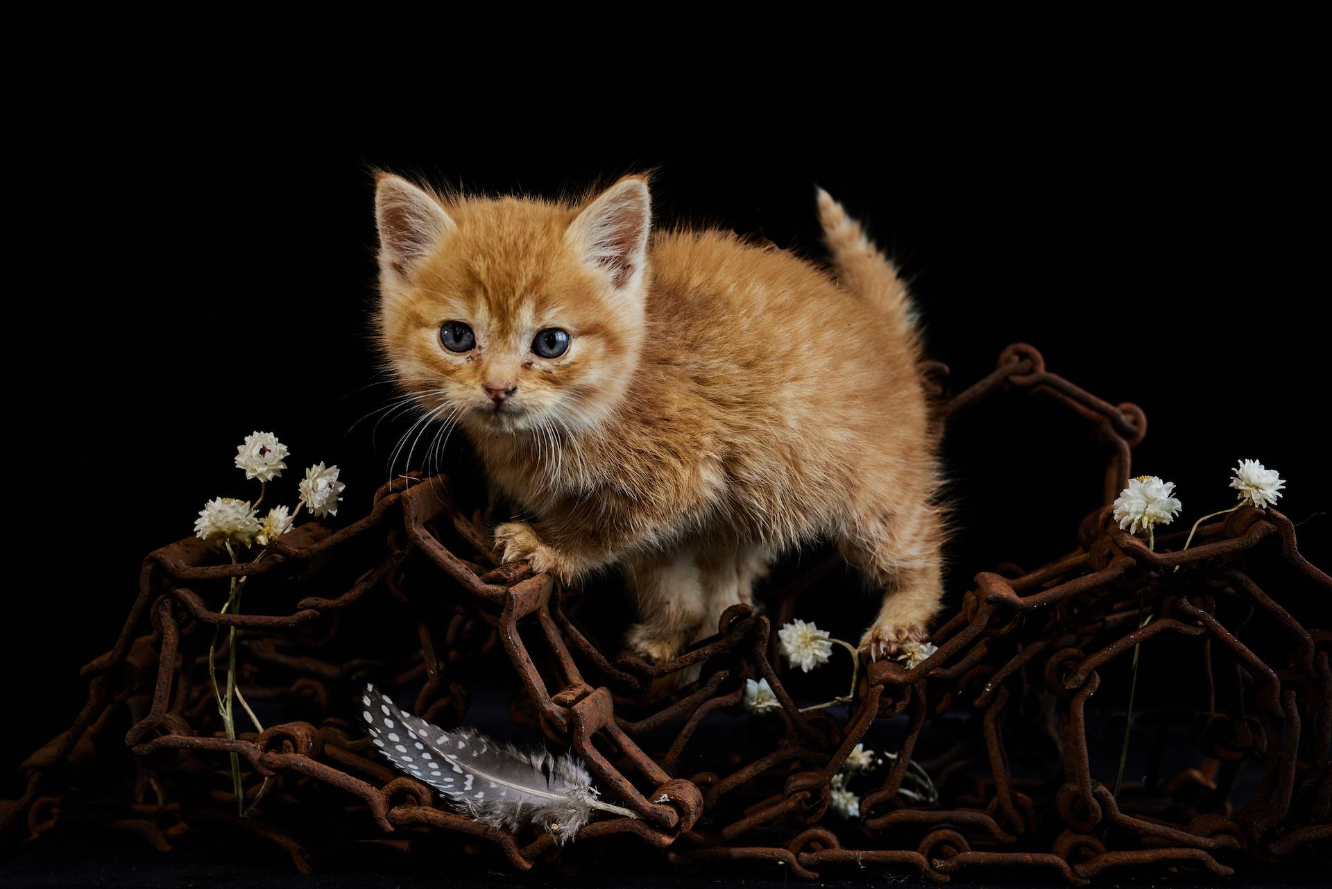
[(610, 272), (615, 289), (626, 289), (642, 280), (647, 265), (651, 217), (647, 181), (629, 176), (589, 204), (569, 224), (565, 239), (585, 263)]

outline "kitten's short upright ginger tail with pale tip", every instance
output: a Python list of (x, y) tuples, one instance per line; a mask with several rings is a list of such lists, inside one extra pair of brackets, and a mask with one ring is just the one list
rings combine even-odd
[(887, 315), (908, 340), (919, 341), (919, 317), (896, 267), (866, 237), (860, 223), (831, 195), (815, 188), (823, 237), (842, 287)]

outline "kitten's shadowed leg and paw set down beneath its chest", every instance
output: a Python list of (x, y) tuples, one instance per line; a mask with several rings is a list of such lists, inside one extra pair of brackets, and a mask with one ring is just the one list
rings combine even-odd
[[(638, 600), (639, 621), (625, 637), (629, 650), (662, 662), (678, 657), (703, 622), (703, 586), (693, 548), (629, 558), (625, 580)], [(715, 630), (714, 630), (715, 632)]]

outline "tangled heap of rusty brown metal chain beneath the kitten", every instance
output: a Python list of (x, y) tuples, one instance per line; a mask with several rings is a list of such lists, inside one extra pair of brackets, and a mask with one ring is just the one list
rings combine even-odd
[[(112, 649), (83, 668), (87, 704), (24, 764), (5, 834), (44, 840), (96, 812), (159, 849), (185, 825), (234, 829), (285, 849), (302, 870), (329, 845), (409, 850), (414, 837), (438, 832), (515, 870), (575, 869), (585, 850), (597, 860), (602, 848), (634, 846), (683, 868), (806, 880), (878, 866), (946, 882), (960, 870), (1002, 868), (1072, 885), (1122, 868), (1227, 874), (1245, 856), (1279, 861), (1325, 842), (1332, 632), (1297, 616), (1307, 620), (1303, 602), (1311, 590), (1327, 597), (1332, 580), (1300, 554), (1293, 524), (1275, 509), (1245, 508), (1201, 526), (1187, 550), (1183, 533), (1162, 534), (1150, 549), (1116, 525), (1110, 506), (1146, 433), (1142, 411), (1083, 391), (1048, 372), (1036, 349), (1014, 344), (940, 415), (1000, 392), (1039, 395), (1096, 429), (1106, 501), (1078, 522), (1076, 550), (1032, 570), (978, 573), (935, 630), (938, 650), (911, 670), (870, 664), (844, 718), (840, 709), (801, 710), (771, 638), (773, 621), (799, 613), (801, 597), (826, 585), (835, 560), (775, 586), (766, 614), (735, 605), (715, 634), (649, 664), (594, 644), (582, 629), (582, 597), (525, 564), (497, 565), (448, 477), (412, 473), (377, 490), (364, 518), (337, 532), (306, 522), (260, 562), (216, 564), (193, 538), (149, 553)], [(1264, 589), (1256, 580), (1283, 565), (1296, 582)], [(233, 577), (248, 578), (253, 610), (221, 613)], [(341, 622), (342, 614), (354, 617)], [(397, 648), (366, 646), (354, 633), (366, 618), (406, 621)], [(217, 628), (237, 630), (245, 697), (293, 716), (224, 736), (206, 673)], [(418, 646), (409, 660), (404, 638)], [(1098, 713), (1090, 716), (1088, 701), (1103, 676), (1127, 672), (1135, 650), (1151, 664), (1163, 645), (1196, 658), (1196, 688), (1184, 686), (1195, 673), (1172, 677), (1180, 706), (1197, 710), (1195, 756), (1179, 774), (1154, 773), (1116, 794), (1103, 782), (1112, 776), (1092, 764), (1118, 742), (1088, 732)], [(374, 757), (346, 705), (362, 680), (457, 725), (472, 696), (458, 668), (482, 658), (488, 669), (505, 665), (521, 689), (515, 717), (574, 750), (605, 798), (639, 817), (598, 818), (558, 845), (545, 833), (473, 821)], [(1151, 669), (1147, 681), (1159, 678)], [(681, 681), (686, 673), (697, 678)], [(779, 709), (749, 717), (753, 730), (726, 730), (718, 745), (710, 726), (742, 713), (746, 678), (767, 680)], [(852, 777), (860, 817), (846, 818), (831, 805), (831, 782), (858, 744), (887, 761)], [(140, 776), (136, 798), (76, 790), (80, 769), (117, 748), (127, 752), (117, 768)], [(1027, 749), (1048, 749), (1050, 768), (1036, 774), (1010, 762), (1010, 752)], [(229, 753), (242, 764), (246, 801), (258, 804), (253, 817), (234, 814)], [(1263, 781), (1251, 798), (1233, 798), (1245, 761)], [(926, 764), (936, 801), (912, 784)]]

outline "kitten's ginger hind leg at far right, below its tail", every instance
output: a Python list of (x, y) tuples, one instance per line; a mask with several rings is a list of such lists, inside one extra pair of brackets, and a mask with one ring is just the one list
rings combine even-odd
[(879, 660), (895, 656), (906, 641), (927, 641), (943, 601), (939, 510), (915, 504), (896, 516), (862, 513), (838, 544), (847, 561), (884, 588), (883, 606), (860, 638), (860, 650)]

